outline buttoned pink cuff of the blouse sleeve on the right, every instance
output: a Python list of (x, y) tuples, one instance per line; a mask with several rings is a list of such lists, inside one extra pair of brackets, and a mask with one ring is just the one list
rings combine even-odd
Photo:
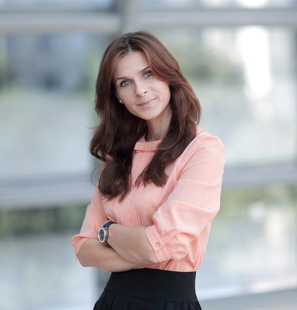
[(170, 260), (170, 254), (163, 243), (155, 225), (146, 227), (146, 236), (158, 258), (159, 262)]

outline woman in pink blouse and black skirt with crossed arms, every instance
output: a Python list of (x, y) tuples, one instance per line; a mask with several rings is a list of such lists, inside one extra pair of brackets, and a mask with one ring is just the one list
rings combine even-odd
[(201, 309), (195, 271), (219, 209), (221, 141), (197, 126), (193, 89), (146, 32), (110, 43), (95, 103), (90, 153), (104, 165), (72, 238), (83, 266), (112, 272), (94, 309)]

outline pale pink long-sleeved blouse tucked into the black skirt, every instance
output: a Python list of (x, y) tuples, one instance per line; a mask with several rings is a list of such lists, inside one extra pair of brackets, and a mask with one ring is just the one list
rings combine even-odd
[[(132, 184), (156, 152), (161, 141), (142, 137), (134, 147)], [(85, 213), (81, 232), (72, 238), (78, 255), (82, 244), (97, 238), (102, 223), (110, 219), (127, 226), (145, 226), (159, 263), (149, 266), (171, 271), (194, 271), (201, 264), (211, 221), (219, 210), (224, 166), (224, 146), (198, 128), (197, 136), (165, 170), (165, 186), (132, 185), (122, 203), (107, 201), (98, 188)]]

